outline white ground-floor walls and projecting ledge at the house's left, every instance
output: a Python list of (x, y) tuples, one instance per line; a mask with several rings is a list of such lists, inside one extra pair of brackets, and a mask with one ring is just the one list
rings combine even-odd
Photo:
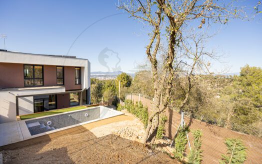
[[(14, 95), (42, 94), (64, 92), (64, 87), (0, 91), (0, 123), (16, 120), (16, 105)], [(8, 93), (10, 92), (10, 93)], [(18, 98), (19, 115), (33, 113), (33, 97)]]

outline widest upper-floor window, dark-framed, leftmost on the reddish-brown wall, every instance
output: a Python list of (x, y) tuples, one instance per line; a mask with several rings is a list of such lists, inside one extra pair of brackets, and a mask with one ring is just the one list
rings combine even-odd
[(24, 65), (24, 86), (43, 85), (43, 66)]

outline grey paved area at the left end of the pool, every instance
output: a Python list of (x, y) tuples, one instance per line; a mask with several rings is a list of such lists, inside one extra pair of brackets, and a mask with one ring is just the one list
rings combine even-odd
[(0, 146), (24, 140), (18, 121), (0, 124)]

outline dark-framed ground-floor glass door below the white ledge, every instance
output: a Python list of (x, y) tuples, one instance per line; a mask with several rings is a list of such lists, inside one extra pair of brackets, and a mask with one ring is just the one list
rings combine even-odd
[(56, 94), (34, 96), (33, 100), (34, 112), (48, 111), (56, 108)]

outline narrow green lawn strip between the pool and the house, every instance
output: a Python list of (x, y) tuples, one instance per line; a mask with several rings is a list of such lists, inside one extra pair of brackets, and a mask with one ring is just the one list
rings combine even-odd
[(35, 114), (21, 115), (20, 118), (21, 118), (21, 120), (22, 119), (29, 119), (29, 118), (58, 114), (58, 113), (66, 112), (66, 111), (74, 111), (74, 110), (79, 110), (79, 109), (84, 109), (84, 108), (88, 108), (88, 107), (76, 106), (76, 107), (69, 107), (69, 108), (64, 108), (64, 109), (60, 109), (60, 110), (50, 110), (50, 111), (45, 111), (45, 112), (40, 112), (40, 113), (35, 113)]

